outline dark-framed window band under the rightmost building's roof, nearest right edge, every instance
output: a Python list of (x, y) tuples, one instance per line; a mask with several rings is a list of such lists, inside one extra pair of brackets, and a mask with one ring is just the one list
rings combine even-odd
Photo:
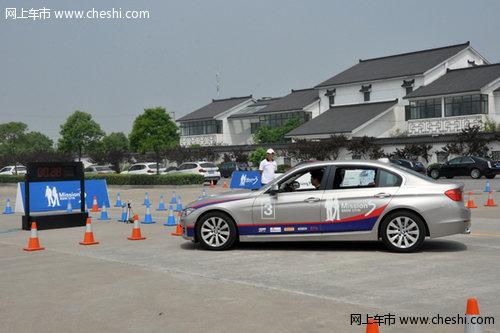
[(445, 116), (488, 114), (488, 95), (467, 95), (445, 98)]

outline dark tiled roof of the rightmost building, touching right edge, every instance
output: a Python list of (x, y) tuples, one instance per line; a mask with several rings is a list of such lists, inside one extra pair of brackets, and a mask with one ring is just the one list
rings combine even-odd
[(488, 83), (500, 78), (500, 64), (448, 70), (439, 79), (409, 93), (405, 98), (480, 92)]

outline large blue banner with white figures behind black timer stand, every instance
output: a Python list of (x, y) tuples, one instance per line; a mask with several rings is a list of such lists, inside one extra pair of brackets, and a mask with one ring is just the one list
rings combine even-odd
[[(69, 202), (74, 210), (79, 210), (80, 192), (80, 182), (77, 180), (30, 183), (30, 212), (66, 210)], [(85, 181), (85, 201), (89, 209), (92, 208), (94, 197), (99, 208), (103, 204), (109, 207), (108, 187), (104, 179)], [(24, 212), (25, 198), (25, 184), (19, 183), (16, 211)]]

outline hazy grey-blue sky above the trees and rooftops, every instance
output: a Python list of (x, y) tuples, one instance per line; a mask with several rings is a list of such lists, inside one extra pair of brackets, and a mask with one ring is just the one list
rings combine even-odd
[[(283, 96), (367, 59), (467, 41), (500, 62), (500, 1), (1, 0), (0, 123), (54, 141), (75, 110), (129, 134), (217, 98)], [(147, 10), (149, 19), (6, 19), (5, 8)], [(26, 14), (27, 15), (27, 14)], [(124, 14), (123, 14), (124, 15)]]

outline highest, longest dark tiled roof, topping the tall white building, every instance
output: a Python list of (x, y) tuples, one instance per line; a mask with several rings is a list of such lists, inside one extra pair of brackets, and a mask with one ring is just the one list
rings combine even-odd
[(316, 88), (423, 74), (467, 47), (469, 47), (469, 42), (382, 58), (359, 60), (358, 64), (318, 84)]

